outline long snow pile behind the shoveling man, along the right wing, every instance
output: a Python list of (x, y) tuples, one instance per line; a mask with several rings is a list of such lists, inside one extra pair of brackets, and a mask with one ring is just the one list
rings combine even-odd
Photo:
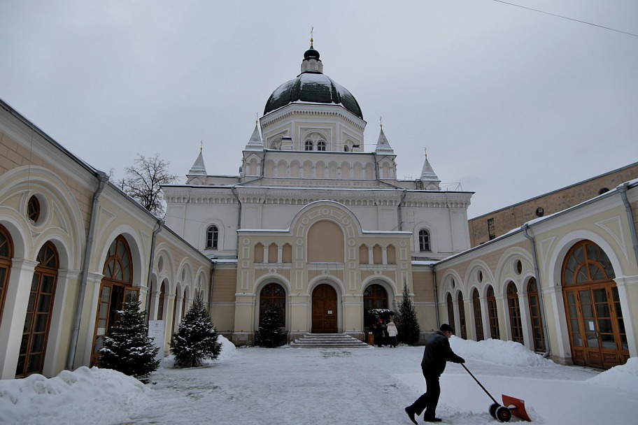
[(484, 341), (464, 340), (458, 336), (450, 338), (453, 352), (467, 359), (489, 361), (506, 366), (556, 366), (551, 360), (527, 350), (524, 345), (513, 341), (492, 340)]

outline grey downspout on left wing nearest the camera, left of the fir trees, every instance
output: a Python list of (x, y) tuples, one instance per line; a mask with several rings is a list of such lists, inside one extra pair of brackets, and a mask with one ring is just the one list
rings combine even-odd
[(91, 262), (91, 252), (93, 249), (93, 232), (95, 229), (95, 221), (97, 219), (97, 203), (99, 197), (108, 182), (108, 175), (102, 171), (97, 171), (97, 189), (93, 194), (93, 203), (91, 204), (91, 218), (89, 220), (89, 229), (87, 231), (87, 240), (84, 247), (84, 259), (82, 261), (82, 273), (80, 274), (80, 293), (78, 294), (78, 304), (76, 305), (76, 318), (73, 322), (73, 332), (71, 333), (71, 347), (69, 357), (66, 359), (66, 368), (73, 370), (73, 363), (76, 361), (76, 350), (78, 348), (78, 336), (80, 335), (80, 320), (82, 319), (82, 308), (84, 305), (84, 297), (86, 295), (86, 281), (89, 274), (89, 266)]

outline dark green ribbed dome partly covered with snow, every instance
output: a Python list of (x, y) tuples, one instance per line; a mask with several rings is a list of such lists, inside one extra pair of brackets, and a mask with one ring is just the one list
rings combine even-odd
[(264, 108), (264, 115), (290, 103), (304, 102), (341, 105), (363, 120), (363, 114), (355, 96), (334, 82), (332, 78), (318, 71), (301, 73), (294, 80), (280, 85), (270, 95)]

